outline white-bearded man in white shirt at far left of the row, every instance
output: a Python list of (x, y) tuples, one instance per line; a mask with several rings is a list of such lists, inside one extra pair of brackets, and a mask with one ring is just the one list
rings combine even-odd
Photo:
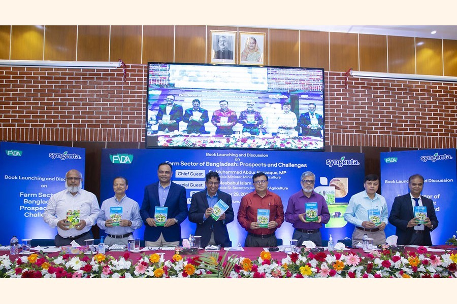
[(93, 239), (90, 229), (99, 216), (99, 201), (93, 193), (81, 188), (81, 181), (81, 172), (68, 171), (66, 189), (49, 198), (43, 219), (52, 228), (57, 227), (55, 246), (70, 245), (72, 241), (84, 245), (84, 240)]

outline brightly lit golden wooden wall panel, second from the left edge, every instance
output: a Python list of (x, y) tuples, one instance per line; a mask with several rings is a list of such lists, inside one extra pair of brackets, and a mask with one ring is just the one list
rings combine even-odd
[(11, 59), (43, 60), (42, 25), (13, 25), (11, 30)]

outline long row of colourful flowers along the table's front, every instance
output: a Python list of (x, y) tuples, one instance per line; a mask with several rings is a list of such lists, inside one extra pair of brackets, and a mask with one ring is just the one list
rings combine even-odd
[(3, 278), (457, 278), (457, 254), (434, 255), (425, 247), (416, 252), (384, 249), (367, 256), (354, 252), (292, 253), (280, 261), (262, 251), (251, 260), (219, 252), (165, 260), (157, 253), (132, 260), (129, 253), (117, 259), (104, 254), (45, 253), (13, 260), (0, 256)]

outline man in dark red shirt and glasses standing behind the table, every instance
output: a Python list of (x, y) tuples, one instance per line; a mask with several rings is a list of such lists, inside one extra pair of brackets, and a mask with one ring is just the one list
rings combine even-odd
[[(248, 232), (244, 246), (276, 247), (275, 231), (284, 222), (281, 198), (268, 190), (268, 176), (264, 172), (255, 173), (252, 183), (255, 191), (241, 199), (237, 216), (240, 225)], [(263, 214), (269, 214), (265, 222), (262, 222)], [(267, 227), (260, 227), (267, 223)]]

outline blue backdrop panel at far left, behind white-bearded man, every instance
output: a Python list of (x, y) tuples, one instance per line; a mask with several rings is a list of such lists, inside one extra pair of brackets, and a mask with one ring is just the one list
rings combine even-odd
[(84, 177), (84, 148), (0, 142), (1, 244), (18, 239), (53, 239), (56, 229), (43, 221), (49, 197), (65, 188), (65, 173)]

